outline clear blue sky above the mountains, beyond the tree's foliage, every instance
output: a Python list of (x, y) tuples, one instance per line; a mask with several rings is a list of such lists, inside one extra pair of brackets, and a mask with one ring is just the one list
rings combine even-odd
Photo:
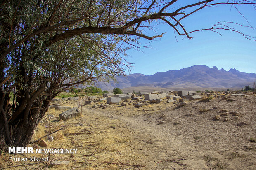
[[(179, 1), (178, 1), (179, 2)], [(179, 6), (180, 4), (176, 4)], [(256, 9), (252, 6), (236, 6), (239, 12), (256, 27)], [(203, 9), (187, 19), (183, 20), (183, 26), (189, 32), (194, 29), (209, 28), (217, 21), (235, 21), (244, 25), (249, 23), (244, 19), (235, 7), (221, 5)], [(236, 27), (244, 33), (256, 37), (256, 29)], [(242, 72), (256, 73), (256, 41), (247, 40), (239, 33), (220, 31), (222, 36), (212, 31), (192, 33), (192, 40), (184, 38), (176, 33), (167, 24), (160, 24), (155, 28), (156, 32), (164, 34), (149, 44), (150, 48), (140, 48), (140, 51), (127, 51), (126, 59), (134, 63), (130, 73), (142, 73), (152, 75), (156, 72), (179, 70), (192, 65), (216, 66), (229, 70), (235, 68)], [(147, 35), (156, 33), (147, 30)], [(142, 43), (149, 40), (140, 39)]]

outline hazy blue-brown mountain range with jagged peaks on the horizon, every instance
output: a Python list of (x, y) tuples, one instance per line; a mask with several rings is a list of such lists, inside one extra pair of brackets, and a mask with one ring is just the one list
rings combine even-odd
[(235, 68), (229, 71), (209, 68), (206, 65), (194, 65), (180, 70), (169, 70), (157, 72), (154, 75), (143, 75), (135, 73), (131, 75), (117, 76), (119, 83), (100, 83), (102, 89), (113, 89), (115, 87), (128, 88), (137, 86), (159, 87), (159, 88), (186, 88), (186, 87), (220, 87), (241, 88), (252, 84), (256, 79), (255, 73), (239, 72)]

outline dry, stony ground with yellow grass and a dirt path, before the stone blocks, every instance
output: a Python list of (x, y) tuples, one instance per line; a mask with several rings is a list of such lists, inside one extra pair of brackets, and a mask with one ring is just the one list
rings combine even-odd
[[(189, 101), (182, 107), (177, 107), (179, 102), (166, 103), (167, 99), (150, 104), (141, 97), (126, 100), (124, 106), (120, 103), (103, 108), (100, 105), (106, 101), (83, 105), (83, 99), (57, 100), (62, 106), (78, 107), (82, 116), (59, 121), (63, 111), (49, 109), (34, 140), (64, 128), (52, 135), (52, 141), (44, 138), (47, 148), (76, 148), (78, 153), (38, 155), (50, 160), (15, 168), (256, 169), (256, 95), (209, 95), (204, 101)], [(138, 103), (142, 107), (134, 107)], [(31, 146), (39, 147), (36, 143)], [(0, 167), (24, 164), (8, 161), (9, 156), (1, 156)]]

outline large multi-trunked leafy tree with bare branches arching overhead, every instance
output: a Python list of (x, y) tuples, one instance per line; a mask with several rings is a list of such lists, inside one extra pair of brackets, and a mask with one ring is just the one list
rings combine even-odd
[[(198, 0), (175, 7), (171, 1), (22, 0), (0, 4), (0, 149), (25, 147), (60, 92), (95, 80), (123, 75), (130, 67), (122, 56), (152, 40), (145, 28), (165, 22), (179, 35), (243, 26), (218, 22), (187, 31), (183, 19), (206, 7), (254, 5), (255, 0)], [(251, 26), (250, 26), (251, 27)], [(13, 100), (10, 101), (11, 97)]]

